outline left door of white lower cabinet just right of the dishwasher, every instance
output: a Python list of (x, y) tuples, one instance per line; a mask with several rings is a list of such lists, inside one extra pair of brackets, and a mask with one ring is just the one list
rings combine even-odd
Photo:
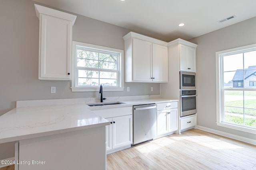
[(168, 133), (168, 114), (169, 110), (157, 111), (157, 135)]

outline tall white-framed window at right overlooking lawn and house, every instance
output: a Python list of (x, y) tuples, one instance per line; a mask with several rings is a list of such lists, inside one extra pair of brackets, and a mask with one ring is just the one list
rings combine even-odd
[(256, 44), (216, 52), (217, 125), (256, 134)]

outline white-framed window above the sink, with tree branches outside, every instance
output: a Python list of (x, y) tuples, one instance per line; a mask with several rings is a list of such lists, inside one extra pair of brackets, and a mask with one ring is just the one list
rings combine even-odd
[(72, 91), (122, 91), (124, 51), (73, 41)]

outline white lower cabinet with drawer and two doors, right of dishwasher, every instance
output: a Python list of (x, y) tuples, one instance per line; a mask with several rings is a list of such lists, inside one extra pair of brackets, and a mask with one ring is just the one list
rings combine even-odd
[(157, 136), (178, 130), (178, 102), (157, 104)]

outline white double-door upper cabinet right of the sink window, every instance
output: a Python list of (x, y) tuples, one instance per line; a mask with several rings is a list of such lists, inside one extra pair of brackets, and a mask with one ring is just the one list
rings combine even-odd
[(125, 82), (168, 82), (167, 43), (130, 32), (125, 41)]

